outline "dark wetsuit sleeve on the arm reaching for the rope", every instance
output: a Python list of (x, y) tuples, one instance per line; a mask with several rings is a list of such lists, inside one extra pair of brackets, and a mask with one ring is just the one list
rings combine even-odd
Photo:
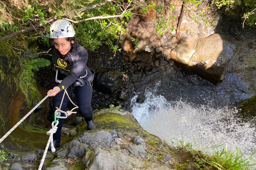
[(58, 85), (58, 87), (60, 88), (60, 91), (68, 88), (70, 85), (72, 85), (75, 82), (76, 79), (79, 78), (79, 76), (84, 72), (84, 68), (86, 67), (87, 60), (88, 60), (87, 52), (84, 55), (79, 56), (77, 59), (75, 58), (73, 67), (71, 68), (69, 74), (62, 80), (62, 83)]

